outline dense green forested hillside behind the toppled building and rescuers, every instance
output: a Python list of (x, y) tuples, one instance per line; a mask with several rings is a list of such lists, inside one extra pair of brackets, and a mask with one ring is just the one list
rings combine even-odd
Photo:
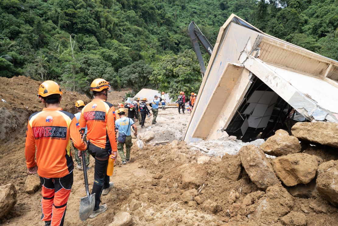
[(0, 7), (0, 76), (55, 80), (84, 93), (97, 77), (135, 92), (197, 91), (188, 25), (194, 20), (214, 44), (231, 13), (338, 59), (338, 0), (1, 0)]

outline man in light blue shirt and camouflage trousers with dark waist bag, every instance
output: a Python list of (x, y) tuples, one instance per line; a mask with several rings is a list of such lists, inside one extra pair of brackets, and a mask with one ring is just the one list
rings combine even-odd
[[(134, 128), (134, 135), (137, 136), (137, 127), (135, 122), (130, 118), (125, 116), (125, 110), (123, 108), (119, 109), (120, 118), (116, 120), (115, 126), (119, 132), (119, 137), (117, 142), (117, 150), (119, 151), (120, 157), (122, 159), (122, 164), (126, 164), (130, 160), (130, 150), (132, 146), (131, 142), (131, 126)], [(123, 136), (124, 142), (123, 142)], [(124, 155), (123, 146), (126, 145), (126, 155)]]

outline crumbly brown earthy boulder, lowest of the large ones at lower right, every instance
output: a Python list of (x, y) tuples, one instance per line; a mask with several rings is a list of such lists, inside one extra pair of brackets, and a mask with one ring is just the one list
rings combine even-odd
[(281, 185), (275, 184), (266, 189), (265, 195), (256, 204), (253, 219), (268, 225), (285, 216), (293, 206), (293, 198)]

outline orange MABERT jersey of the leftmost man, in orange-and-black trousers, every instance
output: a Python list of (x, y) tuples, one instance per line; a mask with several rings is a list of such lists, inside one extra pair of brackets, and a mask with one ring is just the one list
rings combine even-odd
[(77, 149), (87, 149), (86, 143), (81, 139), (80, 130), (75, 116), (62, 108), (44, 108), (32, 114), (28, 119), (26, 132), (27, 168), (38, 165), (39, 176), (46, 178), (64, 177), (72, 172), (74, 165), (70, 138)]

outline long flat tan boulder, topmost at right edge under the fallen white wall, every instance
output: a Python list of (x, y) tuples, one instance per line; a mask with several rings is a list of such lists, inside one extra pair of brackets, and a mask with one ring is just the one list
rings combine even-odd
[(291, 132), (299, 139), (338, 148), (338, 123), (336, 122), (297, 122)]

